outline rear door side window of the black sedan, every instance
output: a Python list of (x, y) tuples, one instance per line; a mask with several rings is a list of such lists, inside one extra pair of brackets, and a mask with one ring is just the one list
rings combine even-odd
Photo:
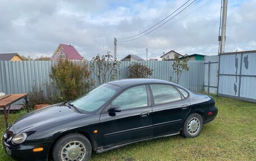
[(181, 100), (180, 93), (171, 85), (155, 84), (150, 85), (152, 90), (154, 104), (169, 103)]

